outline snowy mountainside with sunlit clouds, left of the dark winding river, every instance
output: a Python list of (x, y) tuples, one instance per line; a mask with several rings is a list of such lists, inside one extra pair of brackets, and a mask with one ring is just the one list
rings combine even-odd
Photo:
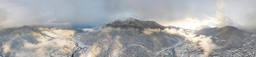
[[(22, 26), (0, 31), (1, 56), (70, 56), (75, 48), (69, 38), (74, 31), (40, 26)], [(62, 53), (62, 54), (57, 54)], [(50, 55), (51, 54), (51, 55)]]

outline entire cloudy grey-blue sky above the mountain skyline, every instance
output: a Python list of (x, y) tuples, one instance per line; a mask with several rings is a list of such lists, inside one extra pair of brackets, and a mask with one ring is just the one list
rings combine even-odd
[(91, 28), (129, 17), (186, 29), (256, 30), (256, 0), (0, 0), (0, 30), (24, 25)]

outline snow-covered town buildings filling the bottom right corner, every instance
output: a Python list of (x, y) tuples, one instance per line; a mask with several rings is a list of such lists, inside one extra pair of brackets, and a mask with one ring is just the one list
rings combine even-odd
[(211, 51), (210, 56), (211, 57), (255, 57), (255, 52), (256, 52), (255, 40), (256, 40), (256, 36), (246, 34), (246, 38), (244, 38), (243, 47), (233, 48), (229, 50), (223, 50), (219, 48), (217, 50)]

